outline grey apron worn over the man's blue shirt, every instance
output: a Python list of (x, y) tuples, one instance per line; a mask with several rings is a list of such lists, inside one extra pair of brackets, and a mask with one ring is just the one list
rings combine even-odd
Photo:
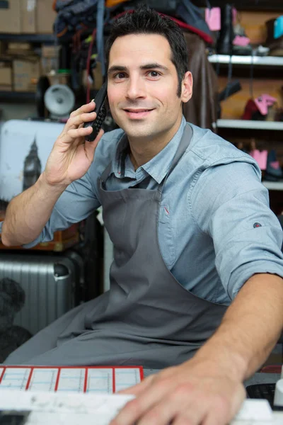
[(157, 190), (107, 191), (111, 166), (105, 169), (98, 188), (105, 227), (115, 246), (110, 290), (40, 331), (14, 351), (6, 364), (160, 369), (191, 358), (212, 335), (227, 307), (183, 288), (168, 271), (158, 246), (163, 186), (191, 137), (186, 125), (171, 168)]

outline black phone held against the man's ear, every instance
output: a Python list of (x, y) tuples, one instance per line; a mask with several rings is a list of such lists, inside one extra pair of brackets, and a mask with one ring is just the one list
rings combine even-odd
[(83, 125), (84, 128), (89, 127), (90, 125), (93, 128), (93, 132), (85, 137), (88, 142), (93, 142), (93, 140), (96, 138), (109, 111), (106, 81), (101, 86), (101, 89), (98, 91), (94, 101), (96, 102), (96, 108), (94, 110), (94, 112), (97, 113), (96, 119), (94, 121), (90, 121), (89, 123), (84, 123)]

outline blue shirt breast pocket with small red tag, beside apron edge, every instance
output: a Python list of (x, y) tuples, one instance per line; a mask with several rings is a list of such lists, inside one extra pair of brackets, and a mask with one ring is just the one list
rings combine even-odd
[(166, 266), (172, 266), (176, 259), (171, 214), (168, 205), (161, 205), (158, 222), (158, 242)]

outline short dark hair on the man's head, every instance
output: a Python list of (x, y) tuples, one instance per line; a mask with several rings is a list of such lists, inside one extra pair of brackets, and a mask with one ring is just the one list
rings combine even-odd
[(178, 74), (178, 96), (181, 94), (182, 80), (187, 72), (187, 44), (183, 32), (173, 19), (161, 16), (146, 4), (141, 4), (134, 12), (128, 11), (112, 24), (110, 36), (105, 43), (105, 56), (109, 63), (110, 49), (117, 37), (130, 34), (159, 34), (168, 40), (171, 47), (171, 60)]

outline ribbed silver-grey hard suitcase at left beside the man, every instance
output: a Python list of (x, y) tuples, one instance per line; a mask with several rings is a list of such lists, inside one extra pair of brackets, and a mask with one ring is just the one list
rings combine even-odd
[(79, 267), (69, 254), (1, 252), (0, 327), (13, 319), (35, 334), (75, 307)]

